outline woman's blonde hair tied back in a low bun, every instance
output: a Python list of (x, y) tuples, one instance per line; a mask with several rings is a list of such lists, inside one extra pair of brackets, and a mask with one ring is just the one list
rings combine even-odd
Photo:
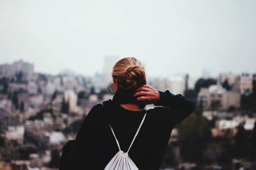
[(118, 89), (137, 89), (147, 84), (144, 67), (134, 57), (118, 60), (113, 67), (112, 78), (118, 81)]

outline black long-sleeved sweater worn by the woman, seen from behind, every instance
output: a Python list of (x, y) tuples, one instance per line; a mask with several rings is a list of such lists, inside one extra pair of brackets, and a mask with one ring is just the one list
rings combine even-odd
[[(169, 90), (159, 94), (160, 99), (154, 104), (163, 107), (147, 110), (129, 150), (129, 157), (140, 170), (159, 170), (173, 127), (195, 110), (195, 103), (181, 94), (175, 95)], [(102, 104), (93, 106), (76, 136), (76, 169), (103, 170), (118, 152), (109, 122), (121, 150), (127, 152), (145, 114), (145, 110), (126, 110), (111, 99), (103, 103), (104, 108)]]

